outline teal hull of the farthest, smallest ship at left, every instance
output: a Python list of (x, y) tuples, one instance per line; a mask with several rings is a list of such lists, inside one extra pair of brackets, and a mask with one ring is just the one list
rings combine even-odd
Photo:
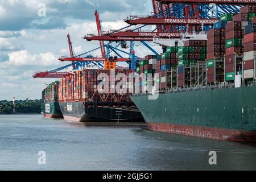
[(46, 102), (42, 105), (43, 114), (46, 118), (63, 118), (59, 102)]

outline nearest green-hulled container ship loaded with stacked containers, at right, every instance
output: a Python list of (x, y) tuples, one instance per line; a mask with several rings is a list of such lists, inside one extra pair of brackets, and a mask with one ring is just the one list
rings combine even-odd
[[(255, 13), (255, 5), (247, 5), (222, 15), (207, 40), (164, 48), (155, 60), (154, 93), (142, 85), (131, 97), (150, 130), (256, 142)], [(145, 60), (140, 74), (148, 72)], [(149, 100), (150, 94), (158, 99)]]

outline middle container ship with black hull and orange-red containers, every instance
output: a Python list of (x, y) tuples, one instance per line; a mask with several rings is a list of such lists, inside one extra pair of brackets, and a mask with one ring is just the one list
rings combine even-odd
[[(143, 122), (141, 112), (131, 101), (129, 90), (122, 94), (98, 92), (100, 74), (110, 70), (84, 69), (63, 77), (59, 86), (59, 104), (64, 119), (79, 122)], [(114, 75), (134, 73), (132, 69), (115, 69)], [(117, 81), (115, 81), (115, 84)], [(109, 79), (110, 84), (110, 79)]]

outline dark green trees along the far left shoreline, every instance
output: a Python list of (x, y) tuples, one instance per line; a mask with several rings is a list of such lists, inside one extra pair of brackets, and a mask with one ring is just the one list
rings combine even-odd
[(15, 101), (15, 113), (13, 113), (13, 101), (0, 101), (0, 114), (40, 114), (42, 100)]

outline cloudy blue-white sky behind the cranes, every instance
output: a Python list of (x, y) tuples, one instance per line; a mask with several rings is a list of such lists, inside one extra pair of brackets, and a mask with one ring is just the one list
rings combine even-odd
[[(0, 0), (0, 100), (41, 98), (42, 90), (56, 79), (32, 75), (69, 64), (58, 60), (69, 56), (68, 33), (75, 55), (99, 47), (99, 42), (82, 39), (97, 34), (95, 10), (108, 31), (127, 26), (127, 16), (150, 15), (152, 5), (151, 0)], [(138, 56), (151, 53), (135, 44)], [(160, 51), (160, 46), (151, 45)], [(100, 56), (100, 50), (92, 55)]]

